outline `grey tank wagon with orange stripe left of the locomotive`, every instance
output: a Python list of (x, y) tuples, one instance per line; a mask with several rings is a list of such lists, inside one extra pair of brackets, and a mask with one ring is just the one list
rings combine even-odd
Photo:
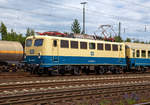
[(19, 42), (0, 41), (0, 71), (16, 71), (22, 60), (23, 47)]

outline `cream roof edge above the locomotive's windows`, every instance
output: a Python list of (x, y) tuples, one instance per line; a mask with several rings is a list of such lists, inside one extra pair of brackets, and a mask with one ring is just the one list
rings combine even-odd
[(35, 35), (35, 36), (29, 36), (27, 39), (32, 39), (32, 38), (44, 38), (44, 39), (63, 39), (63, 40), (74, 40), (74, 41), (87, 41), (87, 42), (101, 42), (101, 43), (110, 43), (110, 44), (124, 44), (124, 43), (119, 43), (119, 42), (109, 42), (109, 41), (104, 41), (104, 40), (92, 40), (92, 39), (81, 39), (81, 38), (68, 38), (68, 37), (55, 37), (55, 36), (42, 36), (42, 35)]

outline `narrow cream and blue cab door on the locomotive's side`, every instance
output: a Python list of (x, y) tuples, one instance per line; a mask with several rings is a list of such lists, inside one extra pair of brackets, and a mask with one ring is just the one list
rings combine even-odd
[(52, 62), (55, 64), (59, 63), (59, 40), (52, 40)]

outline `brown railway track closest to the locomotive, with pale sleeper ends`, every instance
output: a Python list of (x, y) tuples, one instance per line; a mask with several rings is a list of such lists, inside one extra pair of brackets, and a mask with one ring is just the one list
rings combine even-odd
[(24, 81), (8, 82), (0, 84), (0, 93), (7, 91), (20, 91), (27, 89), (39, 89), (48, 87), (61, 87), (68, 85), (86, 85), (99, 83), (120, 83), (120, 82), (142, 82), (149, 81), (150, 76), (127, 76), (127, 77), (95, 77), (95, 78), (76, 78), (76, 79), (59, 79), (59, 80), (41, 80), (41, 81)]

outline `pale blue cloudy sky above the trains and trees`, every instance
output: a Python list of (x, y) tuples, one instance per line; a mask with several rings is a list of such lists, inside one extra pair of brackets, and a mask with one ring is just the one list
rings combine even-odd
[(121, 22), (123, 39), (150, 41), (150, 0), (0, 0), (0, 22), (8, 31), (25, 34), (28, 27), (36, 32), (71, 32), (78, 19), (82, 30), (80, 3), (85, 1), (87, 34), (101, 36), (98, 27), (107, 24), (118, 33)]

